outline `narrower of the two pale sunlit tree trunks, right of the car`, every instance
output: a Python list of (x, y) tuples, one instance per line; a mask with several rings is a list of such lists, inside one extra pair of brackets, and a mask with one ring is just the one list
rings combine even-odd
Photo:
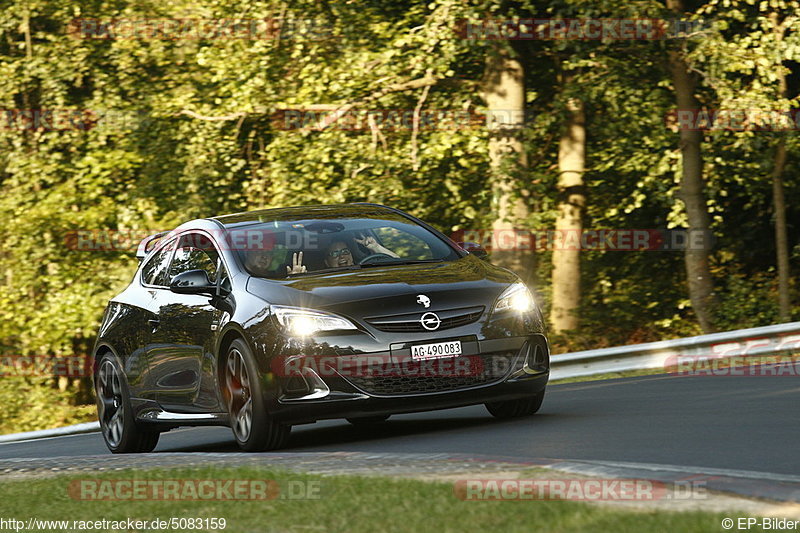
[[(556, 232), (566, 242), (568, 234), (580, 235), (583, 230), (583, 209), (586, 202), (583, 173), (586, 165), (586, 123), (583, 102), (567, 102), (569, 113), (566, 128), (558, 146), (558, 214)], [(575, 242), (570, 240), (570, 242)], [(580, 242), (579, 240), (577, 242)], [(578, 328), (578, 306), (581, 299), (581, 250), (553, 250), (553, 305), (550, 322), (553, 331)]]

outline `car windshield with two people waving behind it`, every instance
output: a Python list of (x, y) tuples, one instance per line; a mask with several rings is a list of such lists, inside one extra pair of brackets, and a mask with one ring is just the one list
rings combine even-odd
[(439, 236), (393, 214), (237, 225), (228, 240), (250, 274), (273, 279), (460, 257)]

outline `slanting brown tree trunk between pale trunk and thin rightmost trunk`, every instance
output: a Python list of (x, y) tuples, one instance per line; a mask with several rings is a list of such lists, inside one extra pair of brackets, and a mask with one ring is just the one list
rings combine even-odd
[[(667, 0), (667, 7), (677, 16), (683, 16), (681, 0)], [(680, 51), (668, 52), (668, 66), (675, 85), (675, 99), (678, 110), (700, 109), (694, 96), (696, 80)], [(682, 175), (679, 197), (686, 207), (689, 219), (689, 234), (700, 234), (702, 246), (691, 246), (690, 237), (684, 252), (689, 299), (697, 315), (697, 321), (705, 333), (715, 330), (713, 319), (714, 286), (709, 268), (709, 245), (706, 236), (709, 232), (708, 206), (703, 191), (703, 158), (700, 151), (702, 135), (699, 131), (680, 130)]]

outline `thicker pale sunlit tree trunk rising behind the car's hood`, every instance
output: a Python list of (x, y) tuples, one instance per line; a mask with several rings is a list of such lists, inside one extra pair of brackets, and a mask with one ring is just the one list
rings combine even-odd
[[(489, 163), (493, 190), (492, 262), (533, 280), (533, 253), (516, 238), (528, 217), (520, 187), (527, 167), (522, 131), (525, 126), (525, 73), (522, 63), (502, 44), (489, 51), (484, 71), (484, 100), (489, 130)], [(502, 237), (502, 238), (498, 238)]]

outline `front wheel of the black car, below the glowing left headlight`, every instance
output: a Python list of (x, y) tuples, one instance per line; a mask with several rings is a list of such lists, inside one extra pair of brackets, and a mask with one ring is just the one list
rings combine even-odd
[(235, 339), (222, 364), (223, 398), (239, 447), (246, 452), (263, 452), (286, 446), (292, 426), (275, 422), (267, 412), (258, 369), (247, 343)]

